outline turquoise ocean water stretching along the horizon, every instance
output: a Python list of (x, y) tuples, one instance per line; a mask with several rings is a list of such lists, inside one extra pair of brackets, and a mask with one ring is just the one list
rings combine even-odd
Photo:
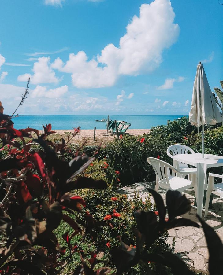
[[(167, 124), (167, 120), (177, 119), (183, 115), (111, 115), (110, 119), (131, 123), (130, 129), (150, 129), (152, 126)], [(28, 126), (38, 130), (42, 125), (51, 123), (54, 130), (69, 130), (80, 126), (81, 129), (105, 129), (105, 122), (95, 122), (95, 119), (107, 119), (107, 115), (21, 115), (13, 119), (16, 129)]]

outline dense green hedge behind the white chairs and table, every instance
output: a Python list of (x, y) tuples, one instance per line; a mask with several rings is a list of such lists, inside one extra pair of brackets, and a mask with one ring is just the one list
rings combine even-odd
[[(143, 142), (141, 138), (144, 138)], [(154, 180), (155, 174), (147, 163), (147, 157), (157, 157), (168, 163), (173, 160), (166, 154), (172, 144), (185, 144), (195, 152), (201, 152), (201, 134), (192, 126), (187, 117), (171, 121), (168, 125), (152, 127), (149, 134), (143, 136), (123, 136), (121, 140), (108, 142), (99, 157), (106, 156), (120, 171), (123, 185)], [(223, 127), (221, 125), (205, 127), (205, 153), (223, 156)]]

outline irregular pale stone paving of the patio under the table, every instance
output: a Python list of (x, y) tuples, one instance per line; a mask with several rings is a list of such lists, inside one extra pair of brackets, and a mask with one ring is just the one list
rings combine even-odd
[[(155, 187), (155, 182), (139, 182), (133, 185), (127, 185), (120, 189), (120, 193), (126, 194), (129, 199), (133, 198), (135, 192), (139, 193), (139, 196), (145, 201), (148, 196), (147, 188)], [(160, 188), (159, 193), (162, 195), (165, 201), (166, 190)], [(186, 190), (185, 195), (191, 200), (192, 205), (194, 204), (194, 192), (193, 189)], [(153, 201), (151, 196), (151, 201)], [(223, 242), (223, 200), (220, 200), (220, 196), (214, 193), (213, 209), (209, 209), (208, 216), (204, 218), (204, 211), (202, 213), (203, 220), (215, 229), (218, 236)], [(191, 211), (181, 217), (189, 218), (195, 222), (198, 222), (196, 218), (197, 209), (192, 207)], [(198, 224), (200, 224), (198, 222)], [(168, 231), (169, 237), (168, 242), (173, 243), (173, 237), (176, 238), (175, 253), (179, 254), (183, 258), (188, 266), (194, 267), (195, 270), (203, 271), (207, 274), (208, 265), (208, 249), (206, 240), (202, 229), (195, 227), (177, 227)]]

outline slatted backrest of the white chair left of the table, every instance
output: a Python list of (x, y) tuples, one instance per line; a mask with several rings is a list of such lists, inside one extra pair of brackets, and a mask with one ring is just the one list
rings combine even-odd
[(172, 170), (174, 167), (163, 160), (152, 157), (147, 158), (147, 161), (152, 165), (158, 183), (164, 188), (170, 188), (168, 177), (170, 177), (170, 169)]

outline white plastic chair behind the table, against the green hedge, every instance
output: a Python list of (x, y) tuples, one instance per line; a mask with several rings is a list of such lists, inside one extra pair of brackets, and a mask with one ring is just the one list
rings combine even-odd
[[(173, 144), (169, 146), (166, 150), (166, 153), (169, 157), (173, 159), (175, 155), (180, 155), (180, 154), (188, 154), (190, 152), (191, 154), (195, 154), (194, 150), (192, 150), (190, 147), (182, 144)], [(197, 173), (197, 168), (195, 167), (188, 167), (186, 163), (183, 162), (178, 162), (177, 165), (173, 166), (177, 168), (180, 172), (185, 172), (185, 171), (195, 171)], [(187, 175), (190, 175), (191, 173), (186, 173), (182, 174), (182, 177), (185, 178)], [(191, 178), (190, 178), (191, 179)]]

